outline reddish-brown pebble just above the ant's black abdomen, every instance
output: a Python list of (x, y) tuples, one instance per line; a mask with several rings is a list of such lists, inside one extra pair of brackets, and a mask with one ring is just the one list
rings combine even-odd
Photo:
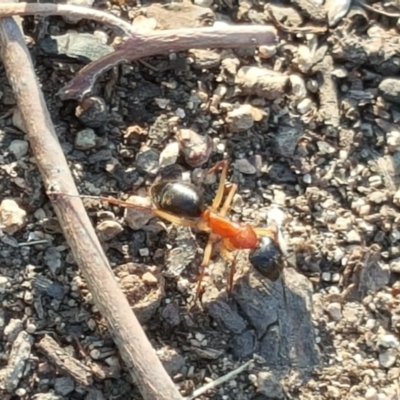
[(213, 141), (208, 135), (199, 135), (191, 129), (181, 129), (176, 138), (185, 161), (193, 168), (201, 167), (211, 156)]

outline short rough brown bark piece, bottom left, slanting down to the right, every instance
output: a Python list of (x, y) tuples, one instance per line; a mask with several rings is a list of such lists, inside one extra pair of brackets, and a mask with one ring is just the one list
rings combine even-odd
[(45, 335), (37, 347), (59, 371), (75, 379), (79, 385), (90, 386), (93, 383), (90, 368), (70, 356), (52, 337)]

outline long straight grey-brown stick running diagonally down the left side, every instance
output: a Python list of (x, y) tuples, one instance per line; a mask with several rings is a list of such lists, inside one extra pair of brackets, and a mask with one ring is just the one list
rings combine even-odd
[[(78, 194), (36, 80), (24, 37), (0, 19), (0, 55), (46, 190)], [(54, 210), (93, 300), (145, 400), (182, 400), (118, 286), (82, 200), (52, 196)]]

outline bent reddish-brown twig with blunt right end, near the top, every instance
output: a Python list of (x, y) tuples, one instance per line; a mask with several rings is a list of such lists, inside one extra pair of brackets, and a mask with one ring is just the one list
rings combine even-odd
[(127, 38), (118, 49), (84, 68), (59, 92), (62, 99), (82, 99), (90, 94), (96, 79), (108, 69), (143, 57), (193, 48), (237, 48), (276, 45), (272, 25), (237, 25), (152, 31)]

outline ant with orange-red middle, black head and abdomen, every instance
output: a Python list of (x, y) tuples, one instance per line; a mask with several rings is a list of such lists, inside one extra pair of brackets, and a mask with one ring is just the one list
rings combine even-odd
[[(201, 283), (205, 270), (210, 262), (215, 244), (219, 244), (219, 251), (230, 265), (228, 279), (228, 293), (231, 294), (233, 278), (236, 271), (236, 260), (232, 255), (235, 250), (250, 250), (251, 265), (261, 275), (271, 281), (276, 281), (282, 272), (283, 259), (287, 257), (283, 236), (280, 227), (277, 229), (258, 228), (250, 224), (231, 221), (226, 215), (237, 191), (237, 185), (232, 184), (226, 194), (228, 161), (220, 161), (209, 171), (221, 169), (217, 193), (211, 206), (205, 206), (198, 188), (191, 183), (180, 180), (162, 180), (150, 188), (150, 198), (154, 204), (154, 215), (175, 225), (186, 226), (201, 232), (209, 233), (204, 250), (203, 261), (200, 266), (200, 276), (197, 283), (196, 297), (201, 293)], [(109, 204), (124, 207), (137, 207), (129, 202), (112, 197), (80, 196), (84, 198), (96, 197)], [(221, 206), (222, 204), (222, 206)]]

